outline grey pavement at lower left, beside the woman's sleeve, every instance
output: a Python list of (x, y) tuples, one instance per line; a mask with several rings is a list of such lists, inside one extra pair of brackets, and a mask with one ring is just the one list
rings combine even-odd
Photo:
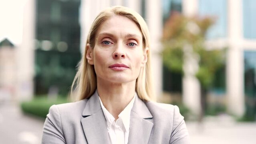
[(22, 114), (14, 103), (0, 103), (0, 144), (40, 144), (44, 119)]

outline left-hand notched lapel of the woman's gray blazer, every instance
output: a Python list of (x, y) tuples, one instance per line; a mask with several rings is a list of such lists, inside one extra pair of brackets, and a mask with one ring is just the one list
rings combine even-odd
[(95, 92), (83, 110), (81, 124), (88, 144), (110, 144), (105, 116)]

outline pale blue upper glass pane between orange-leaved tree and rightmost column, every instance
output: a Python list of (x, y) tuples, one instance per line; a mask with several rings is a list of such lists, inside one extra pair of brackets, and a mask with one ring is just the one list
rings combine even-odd
[(199, 0), (200, 16), (211, 16), (216, 19), (207, 33), (208, 39), (225, 38), (227, 36), (227, 1)]

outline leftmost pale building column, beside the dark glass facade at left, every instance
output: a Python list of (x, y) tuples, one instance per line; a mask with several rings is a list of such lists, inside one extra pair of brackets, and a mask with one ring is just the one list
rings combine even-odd
[(27, 0), (24, 6), (22, 44), (17, 47), (17, 90), (19, 101), (29, 100), (34, 95), (34, 40), (35, 0)]

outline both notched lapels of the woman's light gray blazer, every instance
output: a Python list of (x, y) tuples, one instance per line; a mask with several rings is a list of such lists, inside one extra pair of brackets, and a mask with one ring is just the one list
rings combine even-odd
[[(89, 98), (82, 116), (81, 124), (88, 144), (110, 144), (107, 124), (97, 90)], [(148, 119), (152, 118), (146, 104), (136, 96), (131, 110), (128, 144), (147, 144), (149, 142), (153, 123)]]

